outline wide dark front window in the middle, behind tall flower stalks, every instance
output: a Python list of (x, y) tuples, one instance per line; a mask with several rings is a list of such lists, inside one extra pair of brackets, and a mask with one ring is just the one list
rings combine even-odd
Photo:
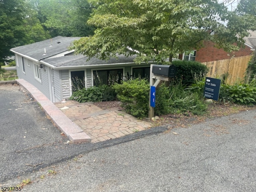
[(93, 71), (93, 84), (95, 86), (102, 84), (111, 85), (121, 83), (123, 69), (95, 70)]

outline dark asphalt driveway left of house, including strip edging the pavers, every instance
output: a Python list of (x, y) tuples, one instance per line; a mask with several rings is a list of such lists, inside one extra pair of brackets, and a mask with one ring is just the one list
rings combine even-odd
[(0, 186), (1, 183), (81, 153), (113, 146), (166, 130), (135, 132), (98, 143), (68, 143), (40, 106), (19, 85), (0, 85)]

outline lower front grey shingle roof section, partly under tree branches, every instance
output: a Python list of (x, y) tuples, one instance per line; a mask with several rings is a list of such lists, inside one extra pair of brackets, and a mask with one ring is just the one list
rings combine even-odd
[(89, 61), (86, 61), (88, 57), (84, 55), (68, 55), (63, 57), (49, 58), (42, 61), (49, 63), (55, 67), (64, 67), (64, 66), (90, 66), (90, 65), (106, 65), (114, 63), (133, 63), (136, 55), (126, 57), (124, 55), (117, 55), (116, 58), (110, 58), (108, 61), (100, 60), (97, 58), (91, 58)]

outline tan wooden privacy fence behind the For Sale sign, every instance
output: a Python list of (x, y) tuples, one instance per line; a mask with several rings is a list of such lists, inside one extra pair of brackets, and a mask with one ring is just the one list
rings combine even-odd
[(235, 84), (244, 82), (244, 76), (247, 64), (251, 56), (235, 57), (231, 59), (210, 61), (203, 63), (210, 71), (206, 76), (212, 78), (222, 78), (226, 76), (226, 84)]

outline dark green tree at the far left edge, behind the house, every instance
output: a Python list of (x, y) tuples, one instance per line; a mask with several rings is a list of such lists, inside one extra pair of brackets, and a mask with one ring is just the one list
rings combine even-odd
[(25, 37), (25, 7), (23, 0), (0, 0), (0, 62)]

